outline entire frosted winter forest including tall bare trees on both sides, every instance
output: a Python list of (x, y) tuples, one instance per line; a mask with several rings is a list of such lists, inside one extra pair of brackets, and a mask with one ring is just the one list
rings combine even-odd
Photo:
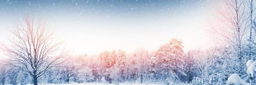
[(9, 31), (8, 43), (0, 44), (0, 84), (256, 85), (256, 1), (222, 4), (215, 8), (218, 23), (207, 25), (221, 44), (188, 51), (172, 38), (153, 51), (72, 55), (47, 20), (25, 14)]

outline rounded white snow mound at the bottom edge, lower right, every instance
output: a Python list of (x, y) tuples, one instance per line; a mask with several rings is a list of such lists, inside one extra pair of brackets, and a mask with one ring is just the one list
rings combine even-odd
[(232, 74), (227, 79), (227, 85), (251, 85), (251, 84), (241, 79), (238, 74)]

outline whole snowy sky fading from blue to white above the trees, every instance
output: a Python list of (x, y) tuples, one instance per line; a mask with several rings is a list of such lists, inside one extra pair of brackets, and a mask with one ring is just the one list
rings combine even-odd
[(46, 18), (73, 54), (157, 50), (177, 37), (184, 50), (209, 47), (208, 0), (1, 0), (0, 42), (24, 14)]

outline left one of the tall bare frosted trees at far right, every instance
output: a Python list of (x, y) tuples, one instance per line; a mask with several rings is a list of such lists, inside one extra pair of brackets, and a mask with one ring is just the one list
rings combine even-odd
[(245, 14), (245, 0), (224, 0), (225, 11), (219, 11), (218, 14), (221, 17), (217, 17), (221, 23), (225, 26), (224, 28), (211, 27), (213, 30), (224, 37), (224, 41), (234, 45), (234, 50), (240, 62), (238, 73), (240, 73), (244, 67), (242, 65), (243, 46), (246, 39), (245, 34), (247, 33), (247, 22), (248, 17)]

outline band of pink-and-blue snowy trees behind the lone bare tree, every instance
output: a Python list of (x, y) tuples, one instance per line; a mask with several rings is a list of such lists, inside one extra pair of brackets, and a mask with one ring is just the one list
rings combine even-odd
[[(62, 65), (46, 71), (38, 83), (70, 82), (225, 84), (237, 72), (238, 61), (231, 46), (206, 51), (183, 51), (182, 41), (172, 39), (157, 51), (139, 49), (103, 51), (98, 55), (72, 56)], [(1, 66), (1, 84), (33, 83), (32, 77), (19, 68)]]

